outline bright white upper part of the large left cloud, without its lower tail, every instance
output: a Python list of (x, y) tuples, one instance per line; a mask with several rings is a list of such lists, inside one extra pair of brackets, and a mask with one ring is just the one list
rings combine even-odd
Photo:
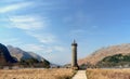
[(13, 25), (10, 27), (15, 27), (24, 30), (36, 30), (47, 26), (39, 16), (11, 16), (10, 21)]

